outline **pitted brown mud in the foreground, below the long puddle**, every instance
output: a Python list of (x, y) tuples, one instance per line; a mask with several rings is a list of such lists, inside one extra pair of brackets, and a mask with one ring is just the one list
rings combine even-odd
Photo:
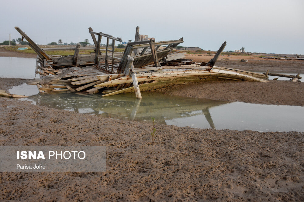
[(0, 142), (106, 146), (106, 172), (1, 172), (21, 201), (304, 200), (304, 135), (105, 119), (0, 98)]

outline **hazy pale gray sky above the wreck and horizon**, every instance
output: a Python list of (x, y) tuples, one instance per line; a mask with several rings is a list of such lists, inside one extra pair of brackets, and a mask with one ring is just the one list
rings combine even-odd
[[(140, 34), (156, 41), (184, 37), (183, 46), (225, 51), (304, 54), (303, 0), (92, 1), (1, 0), (0, 41), (20, 37), (15, 26), (38, 44), (89, 39), (88, 27), (123, 41)], [(105, 40), (102, 40), (105, 43)]]

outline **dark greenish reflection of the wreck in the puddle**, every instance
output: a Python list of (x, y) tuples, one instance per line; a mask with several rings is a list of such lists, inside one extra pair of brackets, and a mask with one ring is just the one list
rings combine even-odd
[(96, 114), (106, 118), (150, 121), (151, 117), (155, 117), (158, 123), (163, 124), (166, 124), (166, 120), (203, 114), (211, 128), (215, 126), (209, 109), (229, 103), (160, 93), (143, 92), (143, 95), (143, 99), (136, 99), (133, 94), (113, 95), (101, 99), (98, 95), (61, 93), (37, 94), (30, 99), (41, 106)]

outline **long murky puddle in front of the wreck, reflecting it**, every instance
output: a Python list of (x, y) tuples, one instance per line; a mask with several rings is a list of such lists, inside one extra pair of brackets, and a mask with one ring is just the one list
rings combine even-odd
[[(20, 85), (22, 92), (30, 93), (30, 85)], [(10, 93), (17, 94), (14, 87)], [(29, 87), (31, 89), (26, 89)], [(20, 90), (20, 89), (18, 89)], [(24, 94), (24, 93), (23, 93)], [(102, 98), (100, 94), (81, 93), (36, 94), (21, 100), (50, 108), (95, 114), (105, 118), (148, 121), (156, 123), (254, 131), (304, 131), (304, 107), (250, 104), (242, 102), (214, 101), (209, 99), (183, 98), (156, 92), (143, 92), (143, 99), (133, 93)]]

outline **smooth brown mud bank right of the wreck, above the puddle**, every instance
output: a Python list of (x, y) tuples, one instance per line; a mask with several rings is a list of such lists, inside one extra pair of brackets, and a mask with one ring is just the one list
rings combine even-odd
[(157, 91), (190, 98), (304, 106), (304, 83), (301, 82), (209, 81), (174, 85)]

